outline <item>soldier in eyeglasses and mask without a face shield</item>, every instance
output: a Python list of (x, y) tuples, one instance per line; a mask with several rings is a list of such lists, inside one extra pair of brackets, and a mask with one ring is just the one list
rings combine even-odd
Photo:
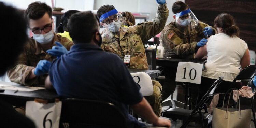
[(23, 53), (7, 75), (19, 84), (44, 85), (51, 61), (67, 53), (73, 42), (53, 32), (52, 9), (45, 3), (29, 4), (24, 17), (33, 37), (27, 40)]

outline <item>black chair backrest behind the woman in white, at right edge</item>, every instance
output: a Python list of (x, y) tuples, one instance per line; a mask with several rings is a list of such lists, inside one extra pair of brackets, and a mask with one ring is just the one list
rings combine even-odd
[(254, 77), (254, 72), (255, 72), (255, 65), (249, 65), (245, 67), (241, 72), (238, 73), (237, 77), (233, 80), (229, 88), (232, 88), (232, 86), (237, 80), (252, 79)]

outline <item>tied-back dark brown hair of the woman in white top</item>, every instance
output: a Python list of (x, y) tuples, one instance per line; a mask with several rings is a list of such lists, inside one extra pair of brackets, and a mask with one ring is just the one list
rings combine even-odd
[(235, 25), (235, 19), (228, 13), (219, 14), (214, 20), (214, 27), (222, 28), (222, 32), (230, 37), (233, 35), (239, 37), (240, 30)]

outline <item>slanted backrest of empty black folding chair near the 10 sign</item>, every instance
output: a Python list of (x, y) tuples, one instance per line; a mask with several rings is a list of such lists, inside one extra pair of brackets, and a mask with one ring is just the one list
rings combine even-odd
[(210, 96), (213, 96), (213, 93), (215, 89), (219, 86), (219, 84), (222, 82), (223, 76), (219, 77), (212, 86), (208, 89), (208, 91), (204, 94), (203, 98), (200, 100), (200, 102), (196, 105), (194, 110), (191, 112), (191, 114), (198, 111), (198, 108), (201, 107), (209, 98)]

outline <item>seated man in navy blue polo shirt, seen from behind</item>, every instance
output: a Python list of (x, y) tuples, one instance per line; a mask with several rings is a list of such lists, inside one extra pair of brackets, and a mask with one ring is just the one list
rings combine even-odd
[(155, 115), (123, 61), (99, 47), (102, 43), (99, 25), (91, 11), (73, 14), (68, 28), (75, 45), (52, 62), (46, 88), (54, 88), (65, 98), (111, 102), (127, 117), (129, 128), (146, 125), (128, 114), (128, 105), (156, 126), (171, 126), (170, 120)]

